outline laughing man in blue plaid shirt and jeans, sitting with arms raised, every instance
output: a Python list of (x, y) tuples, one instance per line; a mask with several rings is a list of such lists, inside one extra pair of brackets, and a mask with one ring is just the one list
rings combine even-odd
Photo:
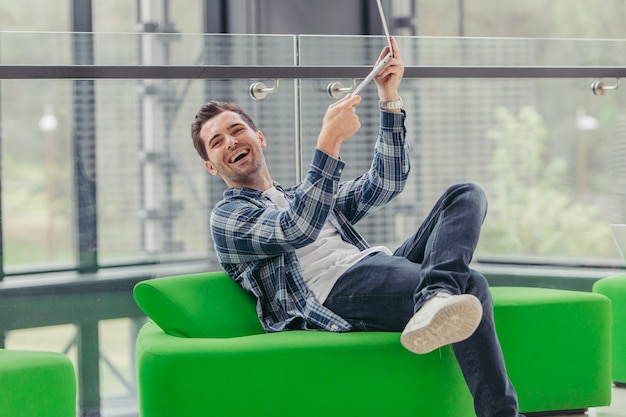
[(268, 332), (402, 331), (402, 344), (415, 353), (452, 343), (477, 415), (516, 417), (487, 282), (469, 267), (486, 215), (482, 190), (449, 188), (393, 253), (370, 247), (353, 227), (398, 195), (409, 173), (398, 93), (404, 64), (392, 42), (395, 58), (375, 78), (381, 115), (374, 158), (354, 180), (340, 182), (339, 153), (360, 127), (359, 96), (329, 106), (309, 171), (290, 188), (272, 180), (267, 140), (243, 110), (219, 102), (200, 109), (194, 145), (228, 186), (211, 215), (215, 248), (224, 269), (257, 298)]

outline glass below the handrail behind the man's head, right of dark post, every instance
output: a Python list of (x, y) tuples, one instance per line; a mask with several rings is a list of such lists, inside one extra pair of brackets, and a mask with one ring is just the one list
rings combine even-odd
[(100, 262), (205, 259), (207, 254), (215, 260), (209, 212), (225, 185), (206, 171), (193, 148), (194, 115), (206, 97), (238, 103), (273, 144), (266, 155), (273, 175), (293, 182), (293, 82), (282, 83), (263, 101), (248, 96), (247, 80), (149, 84), (158, 93), (146, 93), (142, 82), (97, 82)]

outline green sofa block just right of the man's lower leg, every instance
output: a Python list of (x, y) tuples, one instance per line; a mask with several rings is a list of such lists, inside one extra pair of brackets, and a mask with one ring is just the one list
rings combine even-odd
[(532, 287), (492, 287), (491, 293), (521, 412), (610, 404), (608, 298)]

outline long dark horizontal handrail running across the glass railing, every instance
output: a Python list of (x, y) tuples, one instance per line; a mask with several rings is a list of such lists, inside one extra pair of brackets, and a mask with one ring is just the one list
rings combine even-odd
[[(367, 65), (0, 65), (0, 79), (346, 79)], [(406, 66), (405, 78), (623, 78), (626, 67)]]

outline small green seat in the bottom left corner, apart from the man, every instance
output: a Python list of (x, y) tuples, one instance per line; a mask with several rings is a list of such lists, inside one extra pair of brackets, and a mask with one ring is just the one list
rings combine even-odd
[(72, 362), (56, 352), (0, 349), (0, 417), (76, 417)]

